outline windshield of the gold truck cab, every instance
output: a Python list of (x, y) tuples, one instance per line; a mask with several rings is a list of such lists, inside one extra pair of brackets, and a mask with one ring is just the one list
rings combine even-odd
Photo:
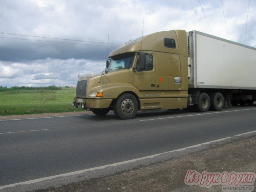
[(134, 56), (134, 52), (113, 56), (108, 66), (108, 70), (131, 68), (134, 61)]

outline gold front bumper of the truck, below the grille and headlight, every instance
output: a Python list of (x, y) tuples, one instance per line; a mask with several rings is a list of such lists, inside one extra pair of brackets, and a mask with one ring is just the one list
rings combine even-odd
[(84, 106), (84, 109), (88, 108), (108, 108), (112, 102), (112, 99), (87, 99), (87, 98), (74, 98), (75, 106)]

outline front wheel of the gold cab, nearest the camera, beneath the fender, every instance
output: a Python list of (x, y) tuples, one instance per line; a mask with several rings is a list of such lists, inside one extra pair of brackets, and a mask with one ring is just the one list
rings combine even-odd
[(132, 119), (138, 111), (138, 100), (132, 94), (126, 93), (121, 95), (114, 102), (114, 112), (121, 119)]

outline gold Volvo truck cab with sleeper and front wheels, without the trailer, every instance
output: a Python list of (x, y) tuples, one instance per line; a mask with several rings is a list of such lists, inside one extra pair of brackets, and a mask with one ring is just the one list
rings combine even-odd
[(138, 110), (187, 107), (188, 45), (184, 30), (157, 32), (113, 50), (100, 74), (80, 76), (73, 106), (122, 119)]

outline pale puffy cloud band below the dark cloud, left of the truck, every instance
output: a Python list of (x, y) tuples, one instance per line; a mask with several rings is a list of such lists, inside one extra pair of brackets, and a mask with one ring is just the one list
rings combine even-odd
[(28, 62), (0, 62), (3, 86), (75, 86), (78, 74), (102, 72), (104, 61), (46, 59)]

